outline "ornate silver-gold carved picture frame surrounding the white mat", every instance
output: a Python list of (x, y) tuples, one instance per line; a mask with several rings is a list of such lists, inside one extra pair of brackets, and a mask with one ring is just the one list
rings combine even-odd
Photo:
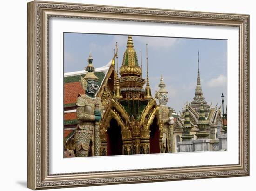
[[(162, 166), (106, 171), (51, 173), (49, 146), (49, 37), (51, 18), (184, 26), (221, 26), (238, 29), (238, 162)], [(102, 29), (104, 30), (104, 29)], [(101, 31), (104, 33), (104, 31)], [(157, 35), (157, 34), (156, 34)], [(106, 184), (128, 184), (197, 178), (249, 176), (249, 15), (175, 11), (32, 1), (28, 3), (28, 188), (48, 189)], [(230, 104), (230, 103), (229, 103)], [(231, 103), (232, 104), (232, 103)], [(229, 120), (232, 120), (229, 119)], [(62, 128), (62, 127), (61, 127)], [(52, 140), (52, 139), (51, 139)], [(68, 162), (68, 159), (65, 159)]]

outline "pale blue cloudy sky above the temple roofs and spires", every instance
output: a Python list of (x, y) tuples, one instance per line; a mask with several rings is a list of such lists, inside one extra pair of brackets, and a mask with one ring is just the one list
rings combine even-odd
[[(146, 43), (148, 43), (148, 73), (152, 95), (158, 90), (161, 74), (169, 94), (168, 106), (182, 111), (186, 101), (195, 94), (197, 79), (197, 51), (200, 77), (205, 100), (213, 106), (221, 103), (227, 90), (226, 40), (188, 39), (170, 37), (133, 36), (134, 48), (140, 63), (142, 51), (143, 78), (146, 78)], [(106, 65), (113, 57), (115, 42), (119, 47), (119, 66), (126, 49), (127, 36), (86, 33), (64, 33), (64, 72), (83, 70), (89, 52), (94, 67)], [(226, 102), (226, 100), (225, 100)]]

